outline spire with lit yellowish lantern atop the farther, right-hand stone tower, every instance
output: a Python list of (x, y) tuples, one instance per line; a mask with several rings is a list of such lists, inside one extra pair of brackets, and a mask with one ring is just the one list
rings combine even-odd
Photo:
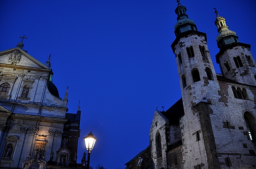
[[(215, 10), (214, 13), (216, 13), (216, 20), (214, 24), (217, 26), (219, 33), (219, 35), (216, 38), (218, 48), (221, 49), (226, 45), (238, 43), (238, 36), (236, 36), (236, 32), (229, 30), (228, 26), (226, 25), (226, 19), (218, 14), (216, 8), (213, 9)], [(223, 37), (225, 37), (225, 39)]]

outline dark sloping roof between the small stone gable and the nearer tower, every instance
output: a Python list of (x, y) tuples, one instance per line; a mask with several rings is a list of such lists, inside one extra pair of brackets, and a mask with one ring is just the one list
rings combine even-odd
[(168, 119), (170, 124), (179, 124), (179, 119), (184, 116), (182, 98), (174, 103), (168, 110), (162, 111), (161, 114)]

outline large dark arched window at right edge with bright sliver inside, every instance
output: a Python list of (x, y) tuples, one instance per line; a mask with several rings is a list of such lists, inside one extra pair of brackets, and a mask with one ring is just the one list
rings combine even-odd
[(256, 121), (254, 116), (250, 112), (245, 112), (244, 119), (245, 119), (245, 124), (248, 130), (250, 140), (256, 141), (255, 140)]

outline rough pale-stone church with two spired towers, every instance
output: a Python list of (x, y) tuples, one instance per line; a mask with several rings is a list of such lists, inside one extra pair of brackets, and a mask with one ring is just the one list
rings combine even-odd
[(178, 1), (176, 57), (182, 98), (155, 111), (150, 129), (156, 169), (256, 168), (256, 63), (225, 19), (215, 24), (220, 52), (216, 73), (206, 34), (197, 30)]

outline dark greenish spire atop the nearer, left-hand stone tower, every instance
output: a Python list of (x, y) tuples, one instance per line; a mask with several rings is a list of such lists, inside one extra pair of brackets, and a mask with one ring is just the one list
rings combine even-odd
[(189, 19), (189, 16), (186, 14), (187, 8), (181, 5), (180, 0), (177, 0), (177, 2), (178, 6), (175, 9), (177, 23), (174, 26), (176, 37), (190, 30), (197, 31), (194, 21)]

